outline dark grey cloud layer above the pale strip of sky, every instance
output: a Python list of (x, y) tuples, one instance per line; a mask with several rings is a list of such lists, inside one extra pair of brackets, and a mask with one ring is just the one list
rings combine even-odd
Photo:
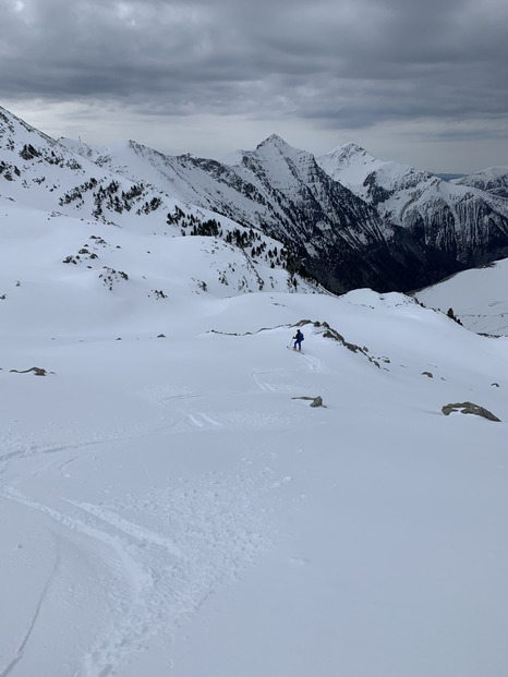
[(508, 110), (506, 0), (1, 0), (10, 100), (361, 129)]

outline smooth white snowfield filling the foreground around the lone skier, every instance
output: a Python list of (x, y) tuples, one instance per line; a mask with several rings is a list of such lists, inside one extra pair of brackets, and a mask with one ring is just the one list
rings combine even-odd
[(506, 675), (506, 338), (0, 214), (1, 677)]

